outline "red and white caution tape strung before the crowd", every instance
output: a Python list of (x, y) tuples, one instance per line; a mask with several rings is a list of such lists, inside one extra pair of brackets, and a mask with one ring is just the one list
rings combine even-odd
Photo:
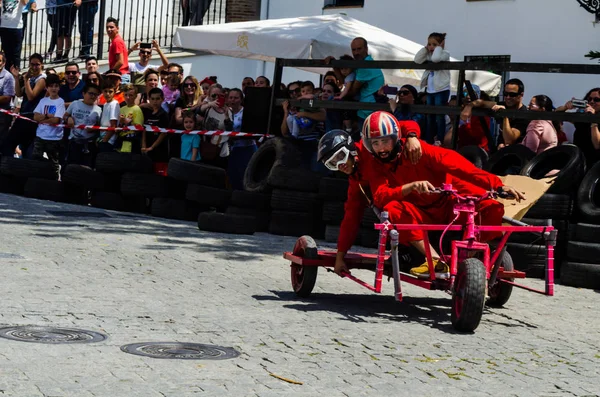
[(236, 138), (269, 138), (270, 136), (267, 134), (251, 134), (247, 132), (235, 132), (235, 131), (208, 131), (208, 130), (176, 130), (172, 128), (160, 128), (153, 127), (151, 125), (133, 125), (133, 126), (125, 126), (125, 127), (100, 127), (98, 125), (75, 125), (69, 126), (66, 124), (47, 124), (47, 123), (39, 123), (35, 120), (30, 119), (29, 117), (22, 116), (18, 113), (13, 113), (9, 110), (0, 109), (0, 113), (5, 113), (13, 117), (17, 117), (19, 119), (27, 120), (36, 124), (45, 124), (52, 127), (61, 127), (61, 128), (75, 128), (79, 130), (89, 129), (94, 131), (152, 131), (162, 134), (184, 134), (184, 135), (208, 135), (208, 136), (228, 136), (228, 137), (236, 137)]

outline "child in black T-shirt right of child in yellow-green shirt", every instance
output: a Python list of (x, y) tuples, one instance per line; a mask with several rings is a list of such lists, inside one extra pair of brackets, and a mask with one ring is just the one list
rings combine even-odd
[[(169, 126), (169, 115), (162, 108), (165, 99), (160, 88), (152, 88), (148, 92), (150, 107), (142, 109), (144, 114), (144, 124), (167, 128)], [(169, 145), (165, 141), (167, 134), (159, 132), (146, 131), (142, 135), (142, 153), (150, 156), (155, 163), (166, 163), (169, 161)]]

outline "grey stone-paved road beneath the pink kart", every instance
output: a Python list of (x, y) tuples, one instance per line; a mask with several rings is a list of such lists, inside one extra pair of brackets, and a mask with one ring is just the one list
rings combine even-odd
[[(558, 286), (549, 298), (517, 290), (505, 309), (486, 311), (475, 334), (457, 334), (441, 292), (406, 286), (409, 297), (397, 304), (391, 283), (376, 295), (321, 273), (314, 296), (296, 299), (281, 259), (292, 238), (48, 210), (101, 212), (0, 195), (0, 324), (109, 338), (0, 339), (0, 395), (600, 395), (595, 291)], [(160, 360), (120, 351), (148, 341), (231, 346), (241, 355)]]

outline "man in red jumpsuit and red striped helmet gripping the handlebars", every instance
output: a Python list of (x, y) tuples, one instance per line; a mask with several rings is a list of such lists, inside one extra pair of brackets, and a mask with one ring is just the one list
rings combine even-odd
[[(448, 224), (453, 213), (454, 198), (431, 194), (444, 183), (463, 195), (480, 196), (486, 191), (502, 189), (517, 200), (525, 197), (493, 174), (480, 170), (458, 153), (421, 144), (422, 157), (418, 164), (412, 164), (402, 157), (391, 156), (398, 145), (397, 133), (389, 125), (390, 114), (375, 112), (366, 120), (363, 128), (363, 145), (379, 161), (368, 162), (363, 171), (369, 180), (373, 201), (376, 207), (387, 211), (391, 223), (397, 224)], [(391, 116), (393, 117), (393, 116)], [(504, 206), (496, 200), (484, 200), (478, 205), (478, 223), (501, 225)], [(459, 219), (460, 221), (460, 219)], [(410, 244), (425, 255), (423, 232), (420, 230), (398, 231), (399, 243)], [(482, 234), (482, 241), (496, 237), (492, 233)], [(436, 275), (447, 277), (448, 265), (440, 261), (439, 254), (431, 247)], [(427, 262), (411, 269), (411, 274), (429, 277)]]

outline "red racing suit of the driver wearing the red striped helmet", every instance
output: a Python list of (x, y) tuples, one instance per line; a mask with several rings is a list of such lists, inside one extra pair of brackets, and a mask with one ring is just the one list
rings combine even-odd
[[(389, 213), (391, 223), (397, 224), (448, 224), (455, 215), (456, 199), (439, 194), (419, 194), (416, 191), (402, 195), (402, 186), (417, 181), (429, 181), (435, 187), (451, 183), (462, 195), (483, 195), (486, 191), (503, 186), (497, 176), (480, 170), (460, 154), (421, 143), (422, 157), (413, 165), (400, 157), (392, 163), (369, 162), (367, 177), (375, 206)], [(484, 200), (478, 205), (477, 223), (501, 225), (504, 206), (496, 200)], [(464, 219), (458, 220), (464, 222)], [(399, 230), (399, 242), (423, 240), (421, 230)], [(501, 233), (482, 233), (481, 240), (488, 241)]]

